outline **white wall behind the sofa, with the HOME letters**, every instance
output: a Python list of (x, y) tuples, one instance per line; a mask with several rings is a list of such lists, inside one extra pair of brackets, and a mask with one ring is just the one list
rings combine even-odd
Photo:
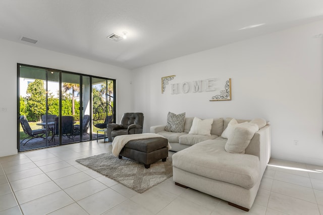
[[(272, 124), (272, 157), (323, 165), (323, 21), (135, 69), (134, 109), (144, 132), (165, 124), (168, 111), (200, 118), (262, 117)], [(232, 101), (210, 102), (212, 93), (161, 94), (170, 83), (232, 78)], [(299, 145), (294, 146), (293, 140)]]

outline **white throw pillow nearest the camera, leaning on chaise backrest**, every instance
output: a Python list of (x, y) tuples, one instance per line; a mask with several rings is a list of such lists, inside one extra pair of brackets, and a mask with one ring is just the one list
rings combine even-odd
[(234, 126), (234, 131), (230, 134), (225, 146), (225, 150), (230, 153), (245, 153), (245, 149), (250, 144), (258, 125), (251, 122), (240, 123)]

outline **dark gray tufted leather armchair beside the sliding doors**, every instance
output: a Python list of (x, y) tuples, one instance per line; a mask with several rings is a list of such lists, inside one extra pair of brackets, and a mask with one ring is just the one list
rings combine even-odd
[(111, 142), (115, 136), (142, 133), (143, 113), (124, 113), (120, 124), (107, 124), (107, 137)]

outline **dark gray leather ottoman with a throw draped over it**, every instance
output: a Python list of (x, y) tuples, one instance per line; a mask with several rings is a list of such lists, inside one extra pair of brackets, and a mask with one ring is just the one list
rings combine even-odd
[(163, 137), (130, 140), (119, 153), (119, 159), (122, 157), (143, 163), (148, 169), (150, 164), (160, 159), (166, 161), (168, 140)]

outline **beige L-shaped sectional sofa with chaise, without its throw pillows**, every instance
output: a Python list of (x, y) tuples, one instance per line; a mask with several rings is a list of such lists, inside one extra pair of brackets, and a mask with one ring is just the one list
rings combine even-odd
[(177, 151), (173, 155), (173, 180), (177, 185), (224, 199), (248, 211), (271, 156), (271, 127), (266, 123), (260, 126), (244, 154), (229, 153), (225, 149), (228, 139), (221, 134), (231, 119), (213, 119), (210, 136), (188, 134), (193, 117), (185, 118), (182, 133), (164, 131), (165, 125), (152, 126), (150, 132), (168, 138), (172, 151)]

